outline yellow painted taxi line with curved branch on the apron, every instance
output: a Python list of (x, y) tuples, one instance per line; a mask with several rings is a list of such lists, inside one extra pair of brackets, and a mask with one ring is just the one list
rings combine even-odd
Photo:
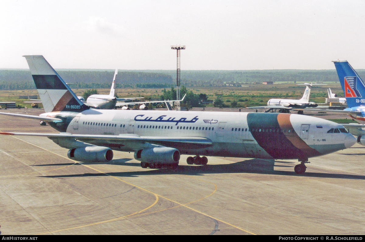
[[(1, 131), (1, 130), (0, 130), (0, 131)], [(12, 137), (14, 137), (14, 136), (12, 136)], [(17, 138), (17, 137), (14, 137), (14, 138)], [(20, 139), (20, 138), (17, 138), (17, 139), (22, 140), (22, 139)], [(55, 153), (55, 152), (52, 152), (52, 151), (49, 151), (49, 150), (47, 150), (47, 149), (45, 149), (45, 148), (39, 147), (38, 145), (35, 145), (35, 144), (32, 144), (32, 143), (29, 143), (29, 142), (27, 142), (27, 141), (25, 141), (25, 140), (22, 140), (22, 141), (24, 141), (24, 142), (26, 142), (26, 143), (28, 143), (28, 144), (34, 145), (35, 147), (38, 147), (38, 148), (44, 149), (45, 151), (51, 152), (51, 153), (53, 153), (53, 154), (55, 154), (55, 155), (58, 155), (58, 156), (64, 157), (65, 159), (69, 159), (68, 157), (65, 157), (65, 156), (59, 155), (59, 154), (57, 154), (57, 153)], [(69, 160), (71, 160), (71, 159), (69, 159)], [(143, 212), (143, 211), (145, 211), (145, 210), (149, 209), (150, 207), (153, 207), (153, 206), (154, 206), (154, 205), (158, 202), (158, 197), (161, 197), (161, 198), (164, 198), (164, 199), (166, 199), (166, 200), (168, 200), (168, 201), (170, 201), (170, 202), (176, 203), (176, 204), (178, 204), (178, 205), (180, 205), (180, 206), (183, 206), (183, 207), (188, 208), (188, 209), (190, 209), (190, 210), (192, 210), (192, 211), (195, 211), (195, 212), (197, 212), (197, 213), (199, 213), (199, 214), (202, 214), (202, 215), (207, 216), (207, 217), (209, 217), (209, 218), (215, 219), (215, 220), (217, 220), (217, 221), (219, 221), (219, 222), (225, 223), (226, 225), (230, 225), (230, 226), (232, 226), (232, 227), (234, 227), (234, 228), (236, 228), (236, 229), (238, 229), (238, 230), (244, 231), (244, 232), (249, 233), (249, 234), (256, 235), (256, 234), (254, 234), (254, 233), (252, 233), (252, 232), (250, 232), (250, 231), (244, 230), (244, 229), (242, 229), (242, 228), (240, 228), (240, 227), (238, 227), (238, 226), (232, 225), (232, 224), (230, 224), (230, 223), (228, 223), (228, 222), (225, 222), (225, 221), (223, 221), (223, 220), (220, 220), (220, 219), (218, 219), (218, 218), (215, 218), (215, 217), (213, 217), (213, 216), (210, 216), (210, 215), (208, 215), (208, 214), (205, 214), (204, 212), (198, 211), (198, 210), (196, 210), (196, 209), (194, 209), (194, 208), (192, 208), (192, 207), (188, 207), (188, 206), (186, 206), (185, 204), (182, 204), (182, 203), (176, 202), (176, 201), (171, 200), (171, 199), (169, 199), (169, 198), (166, 198), (166, 197), (164, 197), (164, 196), (161, 196), (161, 195), (155, 194), (154, 192), (149, 191), (149, 190), (147, 190), (147, 189), (145, 189), (145, 188), (142, 188), (142, 187), (136, 186), (136, 185), (134, 185), (134, 184), (132, 184), (132, 183), (126, 182), (126, 181), (124, 181), (124, 180), (122, 180), (122, 179), (119, 179), (118, 177), (115, 177), (115, 176), (109, 175), (109, 174), (107, 174), (107, 173), (101, 172), (101, 171), (99, 171), (99, 170), (97, 170), (97, 169), (95, 169), (95, 168), (89, 167), (88, 165), (82, 164), (82, 163), (80, 163), (80, 162), (77, 162), (77, 161), (74, 161), (74, 160), (72, 160), (72, 161), (73, 161), (73, 162), (75, 162), (75, 163), (79, 163), (79, 164), (81, 164), (81, 165), (83, 165), (83, 166), (85, 166), (85, 167), (88, 167), (89, 169), (93, 169), (94, 171), (97, 171), (97, 172), (103, 173), (103, 174), (105, 174), (105, 175), (111, 176), (111, 177), (113, 177), (113, 178), (115, 178), (115, 179), (117, 179), (117, 180), (120, 180), (121, 182), (127, 183), (127, 184), (129, 184), (129, 185), (131, 185), (131, 186), (137, 187), (137, 188), (139, 188), (139, 189), (141, 189), (141, 190), (143, 190), (143, 191), (149, 192), (149, 193), (151, 193), (151, 194), (153, 194), (153, 195), (155, 195), (155, 196), (156, 196), (156, 200), (155, 200), (155, 202), (154, 202), (151, 206), (149, 206), (149, 207), (147, 207), (147, 208), (145, 208), (145, 209), (143, 209), (143, 210), (141, 210), (141, 211), (139, 211), (139, 212), (135, 212), (134, 214), (141, 213), (141, 212)], [(189, 204), (189, 203), (188, 203), (188, 204)], [(131, 215), (134, 215), (134, 214), (131, 214)], [(127, 216), (131, 216), (131, 215), (127, 215)], [(108, 221), (109, 221), (109, 220), (108, 220)], [(113, 220), (111, 220), (111, 221), (114, 221), (114, 219), (113, 219)], [(101, 222), (99, 222), (99, 223), (101, 223)], [(98, 223), (95, 223), (95, 224), (93, 224), (93, 225), (96, 225), (96, 224), (98, 224)], [(81, 227), (85, 227), (85, 226), (89, 226), (89, 225), (84, 225), (84, 226), (81, 226)], [(70, 229), (76, 229), (76, 228), (79, 228), (79, 227), (74, 227), (74, 228), (70, 228)], [(68, 229), (65, 229), (65, 230), (68, 230)], [(63, 230), (61, 230), (61, 231), (63, 231)], [(57, 231), (48, 232), (48, 233), (46, 233), (46, 234), (54, 233), (54, 232), (57, 232)]]

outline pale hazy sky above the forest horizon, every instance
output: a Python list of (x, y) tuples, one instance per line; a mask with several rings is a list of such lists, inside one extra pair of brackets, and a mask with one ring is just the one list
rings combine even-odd
[(0, 68), (365, 69), (365, 1), (0, 1)]

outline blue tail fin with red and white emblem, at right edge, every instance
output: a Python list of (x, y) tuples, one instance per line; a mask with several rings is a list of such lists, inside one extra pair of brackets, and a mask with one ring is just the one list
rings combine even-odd
[(349, 108), (365, 105), (365, 84), (347, 61), (332, 61)]

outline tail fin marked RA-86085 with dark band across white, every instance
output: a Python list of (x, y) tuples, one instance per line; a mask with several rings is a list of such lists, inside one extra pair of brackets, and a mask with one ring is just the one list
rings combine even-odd
[(24, 55), (45, 112), (82, 112), (89, 109), (42, 55)]

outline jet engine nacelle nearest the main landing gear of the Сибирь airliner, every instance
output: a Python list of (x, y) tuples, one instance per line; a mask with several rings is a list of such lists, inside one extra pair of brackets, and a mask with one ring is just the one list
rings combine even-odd
[(176, 164), (180, 160), (180, 152), (169, 147), (140, 149), (134, 153), (134, 159), (147, 163)]

